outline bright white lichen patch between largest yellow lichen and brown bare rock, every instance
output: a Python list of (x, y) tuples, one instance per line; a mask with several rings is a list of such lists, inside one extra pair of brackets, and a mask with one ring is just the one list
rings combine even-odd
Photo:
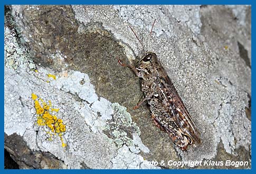
[(104, 98), (98, 98), (87, 74), (70, 72), (67, 77), (62, 76), (52, 81), (51, 85), (84, 100), (74, 103), (74, 108), (83, 115), (92, 132), (102, 132), (106, 128), (106, 121), (112, 118), (111, 103)]

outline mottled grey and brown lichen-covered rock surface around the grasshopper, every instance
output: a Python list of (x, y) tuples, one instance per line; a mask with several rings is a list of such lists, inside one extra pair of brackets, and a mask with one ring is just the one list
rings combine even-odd
[[(146, 104), (132, 110), (140, 81), (116, 59), (142, 51), (129, 26), (165, 67), (200, 146), (181, 151)], [(251, 168), (251, 6), (5, 6), (4, 61), (5, 149), (19, 168)], [(67, 147), (37, 125), (32, 93), (60, 109)]]

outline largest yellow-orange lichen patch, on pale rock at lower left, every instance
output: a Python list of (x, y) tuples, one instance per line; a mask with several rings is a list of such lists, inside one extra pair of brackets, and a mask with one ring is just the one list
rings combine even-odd
[(35, 110), (37, 114), (37, 125), (46, 126), (51, 131), (46, 133), (50, 134), (50, 139), (53, 135), (58, 135), (61, 139), (61, 146), (64, 148), (67, 144), (64, 143), (62, 133), (66, 131), (66, 125), (63, 124), (62, 119), (58, 119), (56, 115), (53, 115), (52, 112), (58, 112), (60, 109), (52, 108), (52, 103), (49, 101), (48, 103), (44, 102), (43, 99), (37, 99), (37, 95), (32, 93), (32, 99), (35, 102)]

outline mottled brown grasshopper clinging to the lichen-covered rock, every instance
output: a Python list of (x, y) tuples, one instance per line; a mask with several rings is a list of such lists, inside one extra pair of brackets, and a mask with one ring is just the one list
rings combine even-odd
[[(150, 35), (155, 21), (152, 25)], [(134, 34), (137, 37), (135, 32)], [(138, 37), (137, 39), (139, 40)], [(141, 45), (143, 46), (142, 43)], [(139, 108), (143, 102), (147, 101), (152, 112), (151, 118), (157, 127), (166, 131), (173, 142), (183, 151), (186, 151), (189, 145), (201, 143), (200, 133), (198, 133), (194, 122), (164, 67), (158, 62), (155, 53), (145, 52), (138, 62), (137, 67), (123, 64), (119, 59), (118, 63), (122, 66), (129, 67), (142, 79), (141, 91), (144, 92), (145, 98), (134, 109)]]

